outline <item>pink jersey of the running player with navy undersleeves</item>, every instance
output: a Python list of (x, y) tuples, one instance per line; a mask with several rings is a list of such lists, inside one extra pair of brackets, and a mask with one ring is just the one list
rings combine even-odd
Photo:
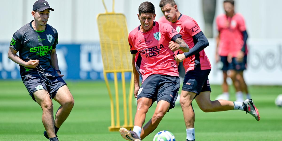
[[(175, 23), (170, 22), (170, 25), (172, 25), (172, 27), (182, 35), (182, 39), (188, 44), (190, 49), (194, 47), (196, 43), (194, 42), (193, 36), (201, 31), (195, 19), (181, 14), (177, 21)], [(178, 50), (178, 52), (175, 52), (175, 55), (177, 53), (181, 54), (183, 52)], [(183, 66), (186, 72), (196, 69), (211, 69), (210, 61), (204, 50), (186, 58), (183, 61)]]

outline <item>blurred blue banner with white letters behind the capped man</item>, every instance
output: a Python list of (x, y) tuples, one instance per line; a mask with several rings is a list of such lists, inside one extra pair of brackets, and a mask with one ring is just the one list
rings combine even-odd
[[(8, 58), (9, 43), (0, 43), (0, 79), (20, 79), (19, 65)], [(99, 43), (58, 44), (58, 63), (64, 79), (104, 80), (103, 61)], [(113, 74), (107, 74), (113, 80)], [(121, 74), (118, 73), (118, 79)], [(131, 73), (125, 73), (129, 80)]]

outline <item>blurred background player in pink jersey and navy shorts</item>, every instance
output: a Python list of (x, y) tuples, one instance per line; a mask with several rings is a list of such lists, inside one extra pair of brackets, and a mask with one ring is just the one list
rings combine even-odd
[(236, 101), (242, 102), (243, 92), (250, 99), (248, 87), (244, 81), (243, 71), (246, 69), (247, 63), (247, 47), (246, 40), (248, 34), (244, 18), (241, 14), (234, 12), (234, 1), (226, 0), (223, 2), (225, 14), (221, 14), (216, 18), (217, 29), (219, 35), (217, 37), (216, 58), (217, 62), (222, 62), (223, 72), (223, 93), (216, 99), (229, 100), (228, 84), (226, 81), (227, 70), (230, 70), (230, 78), (236, 90)]

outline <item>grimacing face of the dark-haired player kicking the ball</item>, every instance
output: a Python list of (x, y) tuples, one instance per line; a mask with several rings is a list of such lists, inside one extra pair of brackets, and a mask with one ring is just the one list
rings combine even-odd
[(143, 28), (143, 32), (147, 32), (153, 28), (154, 20), (156, 18), (156, 14), (153, 13), (141, 13), (138, 15), (138, 19), (140, 20), (141, 26)]

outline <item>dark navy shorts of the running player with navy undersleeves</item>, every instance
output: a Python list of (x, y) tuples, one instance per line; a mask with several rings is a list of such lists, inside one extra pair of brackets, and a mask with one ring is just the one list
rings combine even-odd
[(211, 92), (208, 76), (211, 69), (207, 70), (189, 70), (183, 80), (183, 91), (194, 92), (197, 95), (200, 92)]

